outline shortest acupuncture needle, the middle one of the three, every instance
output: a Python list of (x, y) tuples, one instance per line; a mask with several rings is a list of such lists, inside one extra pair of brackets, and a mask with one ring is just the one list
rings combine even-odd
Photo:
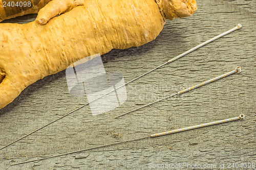
[(131, 112), (133, 112), (133, 111), (139, 110), (139, 109), (144, 108), (144, 107), (146, 107), (146, 106), (149, 106), (149, 105), (152, 105), (152, 104), (154, 104), (154, 103), (160, 102), (160, 101), (162, 101), (162, 100), (164, 100), (164, 99), (167, 99), (167, 98), (170, 98), (170, 97), (172, 97), (172, 96), (174, 96), (174, 95), (179, 95), (179, 94), (185, 93), (185, 92), (187, 92), (187, 91), (196, 89), (196, 88), (201, 87), (201, 86), (203, 86), (203, 85), (209, 84), (209, 83), (214, 82), (214, 81), (216, 81), (216, 80), (222, 79), (222, 78), (227, 77), (227, 76), (230, 76), (230, 75), (232, 75), (232, 74), (235, 74), (236, 72), (240, 73), (241, 71), (242, 71), (241, 67), (240, 67), (240, 66), (237, 66), (236, 69), (231, 70), (231, 71), (229, 71), (229, 72), (227, 72), (227, 73), (225, 73), (225, 74), (223, 74), (223, 75), (220, 75), (220, 76), (217, 76), (217, 77), (215, 77), (215, 78), (209, 79), (209, 80), (204, 81), (204, 82), (202, 82), (202, 83), (199, 83), (199, 84), (197, 84), (197, 85), (188, 87), (188, 88), (186, 88), (186, 89), (184, 89), (184, 90), (180, 90), (180, 91), (178, 91), (177, 93), (174, 93), (174, 94), (172, 94), (172, 95), (169, 95), (169, 96), (167, 96), (167, 97), (165, 97), (165, 98), (162, 98), (162, 99), (157, 100), (157, 101), (155, 101), (155, 102), (152, 102), (152, 103), (150, 103), (150, 104), (141, 106), (141, 107), (139, 107), (139, 108), (137, 108), (137, 109), (134, 109), (134, 110), (131, 110), (131, 111), (129, 111), (129, 112), (123, 113), (123, 114), (121, 114), (121, 115), (119, 115), (119, 116), (116, 116), (116, 117), (114, 117), (114, 118), (121, 117), (121, 116), (123, 116), (123, 115), (125, 115), (125, 114), (131, 113)]

